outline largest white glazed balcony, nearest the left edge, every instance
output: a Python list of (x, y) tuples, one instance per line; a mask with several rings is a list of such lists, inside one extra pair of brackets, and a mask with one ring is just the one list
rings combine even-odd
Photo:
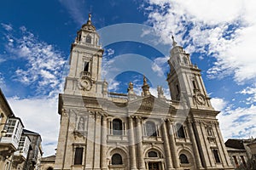
[(11, 156), (18, 149), (23, 125), (19, 118), (9, 118), (3, 127), (4, 134), (0, 139), (0, 155)]

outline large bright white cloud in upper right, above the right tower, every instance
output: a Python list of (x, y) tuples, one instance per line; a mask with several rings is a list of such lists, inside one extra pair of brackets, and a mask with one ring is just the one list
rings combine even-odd
[[(255, 1), (149, 0), (159, 5), (148, 22), (170, 43), (171, 31), (189, 53), (200, 52), (217, 59), (208, 77), (233, 75), (236, 82), (256, 79)], [(166, 38), (169, 37), (169, 38)], [(201, 56), (202, 58), (202, 56)], [(220, 78), (221, 78), (220, 77)]]

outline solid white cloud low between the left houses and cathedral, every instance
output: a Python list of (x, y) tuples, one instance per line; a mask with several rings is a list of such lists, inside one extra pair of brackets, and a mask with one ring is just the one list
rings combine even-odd
[(59, 119), (57, 113), (57, 99), (19, 99), (9, 98), (9, 105), (20, 117), (26, 129), (39, 133), (43, 139), (44, 156), (55, 154), (57, 134), (59, 133)]

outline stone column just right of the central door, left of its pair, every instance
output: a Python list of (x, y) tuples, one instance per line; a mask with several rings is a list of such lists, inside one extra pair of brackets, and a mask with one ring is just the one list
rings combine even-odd
[(170, 149), (168, 134), (166, 131), (166, 121), (165, 120), (163, 120), (161, 127), (162, 127), (162, 131), (163, 131), (164, 148), (165, 148), (165, 152), (166, 152), (166, 169), (172, 169), (173, 167), (172, 167), (171, 149)]

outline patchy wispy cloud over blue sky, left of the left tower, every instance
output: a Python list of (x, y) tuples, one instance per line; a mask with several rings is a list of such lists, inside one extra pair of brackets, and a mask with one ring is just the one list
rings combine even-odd
[(21, 26), (20, 31), (18, 36), (12, 31), (5, 35), (9, 40), (5, 46), (6, 58), (26, 61), (26, 65), (16, 69), (13, 79), (27, 86), (35, 85), (38, 94), (47, 95), (52, 91), (58, 94), (66, 64), (63, 54), (47, 42), (38, 40), (25, 26)]

